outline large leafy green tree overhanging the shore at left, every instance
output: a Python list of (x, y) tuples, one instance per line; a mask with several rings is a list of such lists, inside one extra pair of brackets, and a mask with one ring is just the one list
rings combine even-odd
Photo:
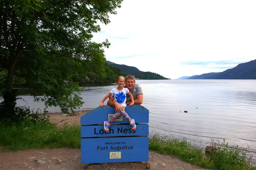
[[(0, 6), (0, 86), (8, 103), (15, 104), (14, 84), (25, 83), (35, 100), (60, 106), (68, 112), (82, 106), (81, 89), (73, 70), (90, 61), (91, 72), (105, 76), (103, 43), (91, 41), (100, 31), (97, 21), (108, 24), (123, 0), (2, 0)], [(73, 62), (70, 62), (72, 60)], [(84, 68), (86, 69), (86, 67)], [(76, 92), (77, 91), (77, 92)], [(9, 95), (5, 95), (9, 94)], [(15, 106), (15, 105), (14, 105)], [(9, 113), (15, 114), (10, 105)], [(1, 115), (0, 115), (1, 116)]]

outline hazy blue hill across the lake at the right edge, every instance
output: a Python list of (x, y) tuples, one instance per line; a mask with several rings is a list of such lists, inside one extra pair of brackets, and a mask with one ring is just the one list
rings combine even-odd
[(256, 60), (238, 64), (223, 72), (193, 75), (187, 79), (256, 79)]

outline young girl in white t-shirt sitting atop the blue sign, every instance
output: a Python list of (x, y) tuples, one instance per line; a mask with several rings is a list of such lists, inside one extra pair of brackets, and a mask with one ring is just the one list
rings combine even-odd
[(124, 84), (125, 84), (125, 79), (123, 76), (119, 76), (116, 79), (116, 84), (118, 85), (117, 88), (112, 89), (109, 94), (107, 96), (105, 96), (100, 103), (100, 107), (105, 106), (103, 103), (104, 101), (108, 98), (111, 97), (112, 95), (114, 96), (114, 101), (117, 101), (117, 103), (119, 103), (121, 106), (123, 106), (123, 110), (119, 111), (115, 109), (115, 114), (109, 118), (108, 121), (104, 122), (104, 129), (106, 132), (109, 131), (109, 127), (110, 124), (115, 120), (116, 117), (118, 117), (120, 114), (123, 115), (126, 120), (130, 123), (130, 125), (132, 126), (132, 130), (136, 129), (136, 124), (134, 119), (131, 119), (131, 117), (129, 117), (129, 115), (124, 111), (125, 107), (126, 107), (126, 94), (128, 94), (131, 97), (131, 101), (132, 103), (130, 104), (130, 106), (134, 105), (134, 100), (133, 100), (133, 96), (131, 94), (131, 92), (129, 91), (129, 89), (124, 88)]

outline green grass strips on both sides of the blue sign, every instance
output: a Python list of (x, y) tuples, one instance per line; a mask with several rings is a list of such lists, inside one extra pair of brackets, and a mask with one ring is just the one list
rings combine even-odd
[[(47, 117), (25, 117), (15, 123), (4, 120), (0, 122), (0, 132), (0, 146), (7, 151), (80, 147), (80, 126), (64, 124), (57, 128)], [(229, 147), (225, 140), (213, 144), (205, 156), (202, 148), (191, 145), (186, 139), (153, 133), (149, 139), (149, 150), (172, 155), (205, 169), (254, 169), (250, 167), (246, 150)]]

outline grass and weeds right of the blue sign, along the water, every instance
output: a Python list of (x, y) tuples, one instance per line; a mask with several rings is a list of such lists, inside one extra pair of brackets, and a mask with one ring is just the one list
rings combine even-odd
[(247, 150), (239, 147), (230, 147), (225, 140), (213, 143), (205, 154), (203, 148), (191, 145), (185, 138), (180, 140), (153, 133), (149, 138), (149, 150), (173, 155), (187, 163), (205, 169), (254, 169), (250, 165), (251, 157), (246, 157)]

